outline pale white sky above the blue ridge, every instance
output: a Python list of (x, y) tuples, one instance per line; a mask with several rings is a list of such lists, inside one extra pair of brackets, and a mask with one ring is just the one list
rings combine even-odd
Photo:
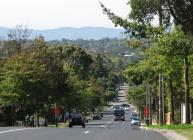
[[(121, 17), (127, 17), (128, 0), (100, 0)], [(33, 29), (109, 27), (99, 0), (0, 0), (0, 26), (28, 25)]]

